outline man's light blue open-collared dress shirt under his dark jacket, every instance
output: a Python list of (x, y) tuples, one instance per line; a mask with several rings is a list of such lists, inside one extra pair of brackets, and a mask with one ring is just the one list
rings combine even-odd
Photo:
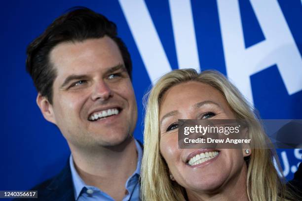
[[(135, 140), (136, 150), (138, 153), (138, 160), (135, 172), (126, 181), (126, 190), (128, 194), (123, 198), (123, 201), (139, 201), (140, 200), (140, 169), (143, 157), (143, 150), (137, 140)], [(70, 169), (72, 173), (74, 192), (76, 201), (114, 201), (108, 194), (101, 191), (97, 187), (88, 186), (80, 178), (76, 172), (76, 168), (73, 162), (73, 156), (70, 155), (69, 159)]]

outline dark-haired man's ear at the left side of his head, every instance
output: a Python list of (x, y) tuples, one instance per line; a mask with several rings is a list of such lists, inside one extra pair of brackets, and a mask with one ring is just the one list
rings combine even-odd
[(37, 104), (38, 104), (38, 106), (39, 106), (39, 108), (40, 108), (40, 110), (41, 110), (44, 118), (47, 121), (56, 124), (52, 105), (47, 100), (47, 98), (44, 97), (44, 96), (42, 96), (40, 93), (38, 93), (36, 101), (37, 101)]

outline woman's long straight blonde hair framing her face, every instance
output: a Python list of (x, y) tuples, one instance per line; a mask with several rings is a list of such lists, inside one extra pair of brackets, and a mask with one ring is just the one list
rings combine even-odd
[[(171, 71), (162, 76), (146, 96), (148, 103), (146, 105), (141, 173), (141, 194), (144, 201), (186, 200), (185, 189), (169, 178), (167, 164), (159, 151), (159, 111), (164, 93), (171, 87), (188, 81), (205, 83), (220, 91), (236, 118), (245, 119), (249, 124), (249, 137), (255, 144), (257, 143), (257, 147), (265, 147), (265, 134), (254, 113), (254, 108), (223, 74), (215, 70), (205, 70), (201, 73), (197, 73), (194, 69)], [(249, 200), (283, 200), (285, 187), (273, 165), (275, 153), (271, 149), (253, 147), (251, 149), (252, 154), (247, 160), (246, 181)], [(282, 172), (280, 166), (278, 170)]]

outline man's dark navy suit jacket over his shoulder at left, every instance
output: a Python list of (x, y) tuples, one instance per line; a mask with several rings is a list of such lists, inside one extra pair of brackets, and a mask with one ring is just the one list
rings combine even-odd
[[(59, 174), (35, 186), (31, 191), (38, 191), (38, 199), (26, 199), (27, 201), (75, 201), (69, 160)], [(24, 200), (16, 199), (14, 201)]]

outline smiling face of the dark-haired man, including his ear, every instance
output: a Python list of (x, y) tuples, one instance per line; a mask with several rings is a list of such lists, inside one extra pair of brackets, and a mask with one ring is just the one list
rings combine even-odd
[(51, 51), (50, 62), (57, 71), (53, 103), (39, 96), (37, 101), (70, 146), (114, 146), (133, 133), (135, 95), (111, 38), (61, 43)]

